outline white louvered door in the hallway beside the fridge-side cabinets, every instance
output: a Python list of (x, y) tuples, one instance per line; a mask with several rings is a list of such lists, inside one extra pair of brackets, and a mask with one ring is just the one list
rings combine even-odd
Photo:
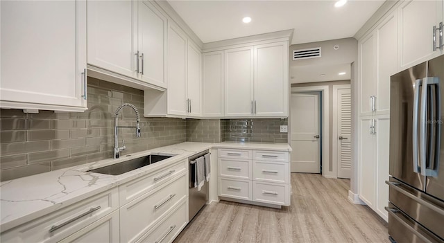
[[(337, 89), (336, 95), (336, 165), (338, 177), (350, 179), (352, 165), (352, 98), (350, 88)], [(334, 155), (335, 156), (335, 155)]]

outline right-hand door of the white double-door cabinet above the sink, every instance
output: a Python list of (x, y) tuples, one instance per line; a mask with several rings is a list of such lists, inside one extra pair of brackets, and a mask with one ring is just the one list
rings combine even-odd
[(148, 1), (138, 1), (138, 4), (139, 78), (150, 84), (162, 85), (167, 66), (167, 18)]

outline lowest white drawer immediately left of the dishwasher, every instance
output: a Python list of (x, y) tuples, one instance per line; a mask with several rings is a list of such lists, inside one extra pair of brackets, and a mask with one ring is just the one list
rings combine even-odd
[(174, 209), (153, 231), (142, 236), (137, 242), (173, 242), (182, 228), (187, 224), (187, 204), (185, 200), (182, 205)]

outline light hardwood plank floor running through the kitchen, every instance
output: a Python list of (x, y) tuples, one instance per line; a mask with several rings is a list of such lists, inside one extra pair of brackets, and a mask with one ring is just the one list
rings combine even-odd
[(220, 201), (205, 206), (174, 242), (389, 242), (387, 224), (348, 201), (350, 180), (291, 174), (291, 206)]

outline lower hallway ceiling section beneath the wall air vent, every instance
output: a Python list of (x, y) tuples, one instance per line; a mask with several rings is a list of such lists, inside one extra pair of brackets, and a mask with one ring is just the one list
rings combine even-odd
[[(344, 75), (338, 73), (345, 72)], [(324, 75), (322, 75), (324, 74)], [(350, 63), (311, 66), (290, 66), (291, 84), (350, 80)]]

